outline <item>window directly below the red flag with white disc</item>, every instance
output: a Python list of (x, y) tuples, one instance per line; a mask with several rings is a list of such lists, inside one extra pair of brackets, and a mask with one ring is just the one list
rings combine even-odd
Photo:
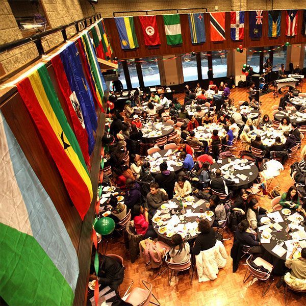
[(142, 58), (141, 69), (144, 86), (155, 86), (161, 84), (161, 78), (159, 74), (159, 68), (157, 64), (157, 58), (149, 57)]

